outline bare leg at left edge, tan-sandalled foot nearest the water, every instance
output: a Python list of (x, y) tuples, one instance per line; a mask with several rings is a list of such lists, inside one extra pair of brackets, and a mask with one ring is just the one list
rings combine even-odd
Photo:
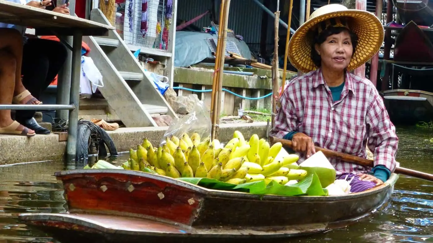
[[(17, 56), (22, 55), (22, 39), (14, 29), (0, 28), (0, 104), (11, 104), (16, 85)], [(34, 136), (35, 132), (10, 117), (10, 110), (0, 110), (0, 134)]]

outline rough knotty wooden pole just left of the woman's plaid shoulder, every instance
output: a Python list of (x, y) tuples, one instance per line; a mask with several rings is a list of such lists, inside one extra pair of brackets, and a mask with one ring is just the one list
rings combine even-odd
[[(274, 21), (274, 60), (272, 60), (272, 112), (274, 114), (277, 113), (277, 106), (278, 106), (278, 91), (279, 91), (279, 82), (280, 82), (280, 72), (279, 72), (279, 62), (278, 62), (278, 20), (280, 19), (280, 11), (277, 8), (277, 11), (275, 12), (275, 21)], [(290, 28), (287, 28), (290, 32)], [(285, 72), (283, 72), (283, 76), (285, 76)], [(274, 118), (273, 115), (271, 117), (272, 124), (274, 124)]]

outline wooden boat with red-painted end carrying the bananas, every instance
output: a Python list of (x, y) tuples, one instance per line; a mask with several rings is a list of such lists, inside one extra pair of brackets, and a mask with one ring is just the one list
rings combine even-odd
[(19, 219), (62, 243), (278, 241), (347, 225), (391, 198), (398, 175), (362, 193), (272, 196), (206, 189), (132, 170), (67, 170), (68, 213)]

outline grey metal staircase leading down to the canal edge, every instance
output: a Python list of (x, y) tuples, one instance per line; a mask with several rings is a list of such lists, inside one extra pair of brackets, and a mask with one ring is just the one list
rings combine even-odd
[[(111, 25), (100, 9), (92, 9), (90, 19)], [(99, 87), (108, 106), (125, 126), (157, 126), (151, 114), (176, 114), (156, 88), (152, 78), (136, 60), (117, 32), (109, 36), (83, 37), (90, 47), (89, 56), (103, 76), (103, 87)]]

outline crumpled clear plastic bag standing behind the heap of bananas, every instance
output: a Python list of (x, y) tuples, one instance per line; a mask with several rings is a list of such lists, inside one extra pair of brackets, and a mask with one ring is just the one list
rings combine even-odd
[(200, 101), (194, 106), (190, 114), (179, 118), (168, 127), (161, 139), (160, 146), (165, 144), (165, 138), (171, 138), (174, 135), (181, 139), (183, 133), (187, 133), (188, 136), (198, 133), (201, 138), (200, 140), (204, 141), (205, 139), (210, 139), (211, 129), (210, 110), (207, 109), (203, 101)]

